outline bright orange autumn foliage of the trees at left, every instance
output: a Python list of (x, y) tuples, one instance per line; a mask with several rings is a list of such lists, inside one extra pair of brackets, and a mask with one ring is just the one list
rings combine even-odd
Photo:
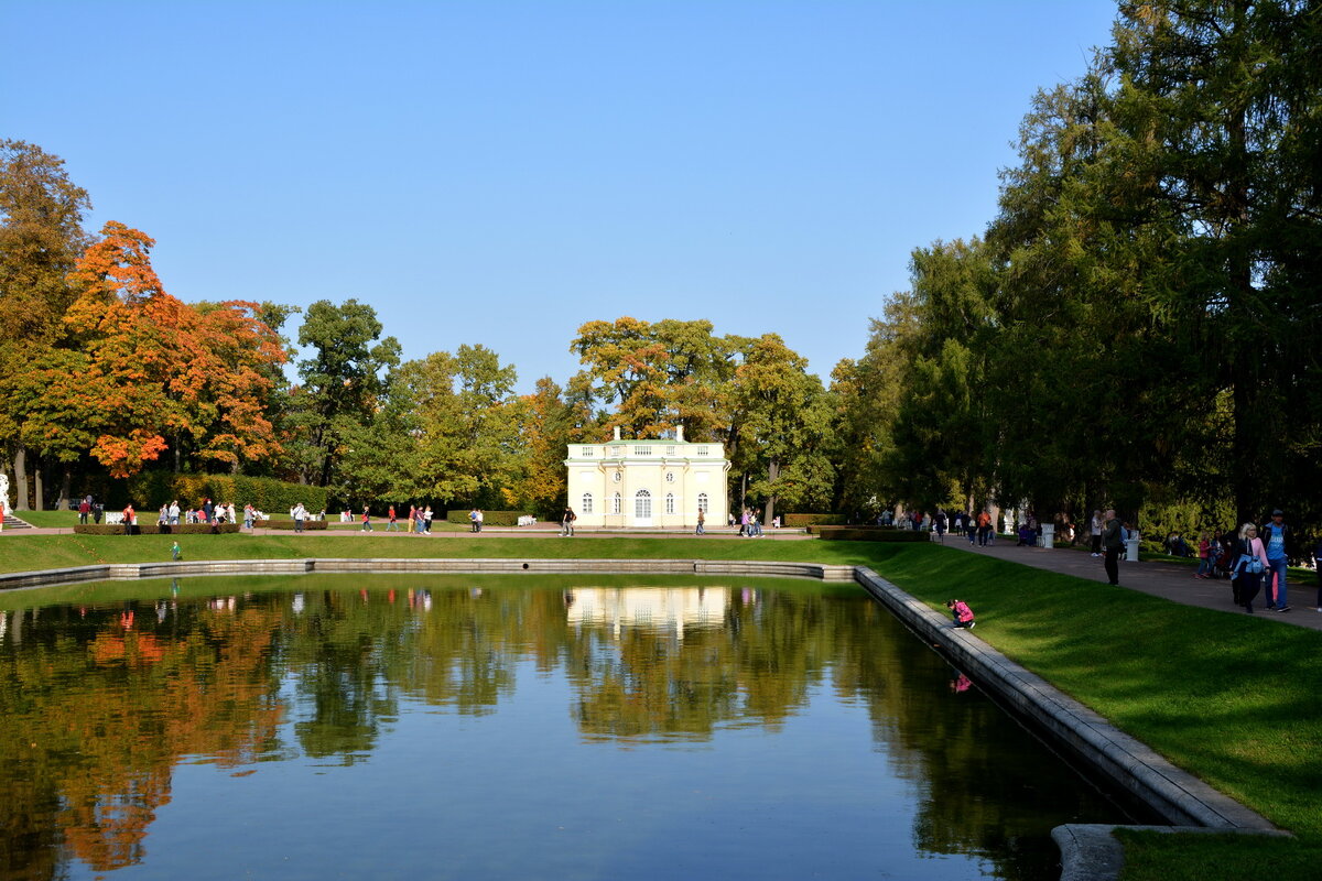
[(258, 304), (201, 312), (161, 287), (149, 236), (116, 222), (102, 236), (69, 275), (81, 291), (65, 314), (81, 382), (46, 384), (57, 394), (46, 409), (91, 431), (90, 452), (114, 477), (185, 437), (201, 458), (230, 465), (279, 453), (266, 402), (286, 353)]

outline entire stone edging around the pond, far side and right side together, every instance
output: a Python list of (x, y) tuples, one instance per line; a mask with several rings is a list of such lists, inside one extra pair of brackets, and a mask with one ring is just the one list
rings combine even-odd
[[(1030, 719), (1093, 769), (1151, 807), (1170, 827), (1126, 828), (1158, 831), (1281, 833), (1270, 822), (1192, 774), (1171, 765), (1146, 744), (1014, 663), (972, 631), (900, 590), (867, 567), (760, 560), (522, 560), (506, 559), (334, 559), (198, 560), (172, 563), (111, 563), (37, 572), (0, 573), (0, 590), (82, 581), (160, 579), (200, 575), (305, 575), (309, 572), (431, 572), (431, 573), (652, 573), (746, 575), (858, 582), (907, 627), (940, 649), (981, 688)], [(1063, 881), (1110, 881), (1120, 876), (1124, 851), (1110, 835), (1114, 826), (1066, 824), (1052, 829), (1062, 853)]]

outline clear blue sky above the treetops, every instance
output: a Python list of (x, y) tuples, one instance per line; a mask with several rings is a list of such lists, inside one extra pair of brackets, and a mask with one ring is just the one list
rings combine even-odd
[[(0, 3), (0, 136), (157, 239), (184, 300), (370, 302), (406, 358), (564, 382), (629, 314), (828, 378), (980, 235), (1112, 0)], [(290, 330), (296, 330), (297, 318)]]

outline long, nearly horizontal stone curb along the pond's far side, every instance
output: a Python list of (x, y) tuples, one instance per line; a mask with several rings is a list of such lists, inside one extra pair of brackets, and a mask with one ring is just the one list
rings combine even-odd
[(850, 582), (854, 568), (775, 560), (537, 560), (502, 559), (362, 559), (313, 557), (299, 560), (181, 560), (178, 563), (108, 563), (38, 572), (0, 575), (0, 590), (41, 588), (82, 581), (169, 579), (204, 575), (305, 575), (308, 572), (459, 572), (459, 573), (574, 573), (613, 575), (747, 575), (820, 579)]

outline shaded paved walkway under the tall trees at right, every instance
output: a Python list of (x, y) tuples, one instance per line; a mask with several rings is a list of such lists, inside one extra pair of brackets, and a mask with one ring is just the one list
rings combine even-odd
[[(947, 547), (958, 548), (969, 553), (994, 556), (999, 560), (1013, 560), (1038, 569), (1073, 575), (1089, 581), (1107, 582), (1107, 572), (1101, 567), (1101, 557), (1091, 556), (1083, 549), (1068, 548), (1025, 548), (1015, 547), (1013, 540), (999, 539), (992, 547), (980, 548), (970, 546), (964, 536), (945, 536)], [(1202, 606), (1203, 609), (1216, 609), (1220, 612), (1244, 616), (1243, 609), (1231, 600), (1231, 582), (1225, 579), (1195, 579), (1196, 567), (1186, 567), (1178, 563), (1158, 563), (1145, 560), (1140, 563), (1120, 561), (1120, 586), (1130, 590), (1141, 590), (1154, 597), (1163, 597), (1173, 602), (1183, 602), (1188, 606)], [(1306, 581), (1296, 581), (1294, 572), (1285, 582), (1286, 600), (1293, 606), (1290, 612), (1264, 612), (1260, 606), (1263, 594), (1257, 594), (1253, 604), (1253, 613), (1259, 618), (1280, 621), (1322, 630), (1322, 613), (1317, 612), (1318, 582), (1315, 575), (1309, 575)]]

